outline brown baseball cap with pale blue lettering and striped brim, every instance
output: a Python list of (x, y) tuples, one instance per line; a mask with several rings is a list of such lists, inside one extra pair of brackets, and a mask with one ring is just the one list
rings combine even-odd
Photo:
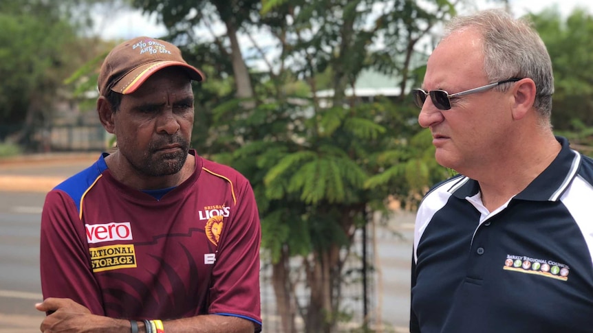
[(151, 75), (166, 67), (183, 67), (191, 80), (202, 81), (204, 74), (188, 65), (175, 45), (150, 37), (136, 37), (114, 47), (101, 65), (98, 79), (100, 95), (109, 90), (128, 94)]

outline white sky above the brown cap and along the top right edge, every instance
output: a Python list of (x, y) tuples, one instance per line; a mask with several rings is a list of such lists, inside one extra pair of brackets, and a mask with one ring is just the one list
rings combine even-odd
[[(500, 7), (499, 3), (488, 0), (469, 1), (475, 3), (477, 9)], [(568, 15), (577, 6), (593, 13), (592, 0), (509, 0), (511, 12), (521, 16), (527, 12), (538, 13), (543, 8), (559, 6), (563, 15)], [(562, 5), (560, 5), (562, 3)], [(101, 17), (101, 15), (98, 15)], [(98, 31), (105, 39), (127, 39), (136, 36), (158, 37), (166, 33), (161, 25), (155, 23), (155, 16), (142, 15), (140, 12), (128, 10), (110, 10), (109, 15), (98, 19)]]

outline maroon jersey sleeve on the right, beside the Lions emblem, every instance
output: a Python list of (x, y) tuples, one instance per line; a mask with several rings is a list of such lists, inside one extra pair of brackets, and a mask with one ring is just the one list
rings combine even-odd
[(221, 234), (208, 312), (249, 319), (259, 326), (257, 331), (261, 330), (260, 243), (261, 226), (255, 196), (248, 181), (243, 179), (233, 215)]

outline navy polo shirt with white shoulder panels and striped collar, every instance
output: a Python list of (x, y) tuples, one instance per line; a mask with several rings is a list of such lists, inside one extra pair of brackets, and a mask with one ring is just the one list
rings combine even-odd
[(416, 218), (411, 332), (593, 332), (593, 159), (556, 159), (488, 213), (457, 175)]

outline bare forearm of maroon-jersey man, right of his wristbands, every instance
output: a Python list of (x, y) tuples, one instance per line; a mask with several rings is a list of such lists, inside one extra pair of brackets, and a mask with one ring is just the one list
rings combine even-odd
[[(155, 330), (147, 330), (144, 321), (137, 323), (138, 333), (157, 333)], [(254, 324), (247, 319), (218, 314), (162, 321), (162, 325), (166, 333), (253, 333), (255, 330)], [(125, 332), (131, 332), (129, 323), (127, 327)]]

